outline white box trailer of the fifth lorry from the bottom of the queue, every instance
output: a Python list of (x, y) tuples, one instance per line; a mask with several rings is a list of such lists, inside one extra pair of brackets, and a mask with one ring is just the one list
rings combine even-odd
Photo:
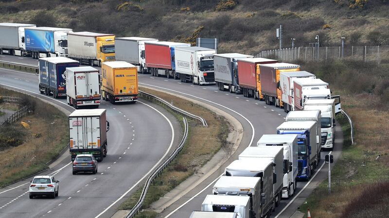
[(283, 188), (283, 147), (247, 147), (239, 156), (239, 160), (270, 158), (273, 160), (273, 172), (277, 182), (273, 184), (273, 197), (276, 206), (280, 204)]

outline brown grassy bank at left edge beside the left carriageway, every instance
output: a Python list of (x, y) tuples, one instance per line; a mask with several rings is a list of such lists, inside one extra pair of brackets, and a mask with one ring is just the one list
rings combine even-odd
[[(67, 146), (69, 131), (66, 115), (38, 98), (3, 88), (0, 88), (0, 95), (21, 97), (20, 107), (29, 105), (33, 110), (1, 129), (2, 133), (12, 129), (18, 135), (0, 138), (0, 187), (5, 187), (47, 169), (48, 163)], [(23, 128), (20, 121), (29, 123), (30, 128)]]

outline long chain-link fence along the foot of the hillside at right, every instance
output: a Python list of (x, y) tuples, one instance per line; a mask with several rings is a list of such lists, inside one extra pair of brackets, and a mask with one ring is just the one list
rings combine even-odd
[(358, 62), (389, 63), (389, 46), (356, 47), (294, 47), (262, 51), (255, 57), (273, 58), (282, 62), (334, 62), (349, 60)]

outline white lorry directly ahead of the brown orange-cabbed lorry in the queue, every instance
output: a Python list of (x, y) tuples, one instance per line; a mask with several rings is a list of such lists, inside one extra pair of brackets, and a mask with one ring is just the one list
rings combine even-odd
[(285, 113), (295, 110), (293, 84), (296, 78), (314, 79), (316, 76), (306, 71), (280, 73), (281, 100), (283, 101), (283, 110)]

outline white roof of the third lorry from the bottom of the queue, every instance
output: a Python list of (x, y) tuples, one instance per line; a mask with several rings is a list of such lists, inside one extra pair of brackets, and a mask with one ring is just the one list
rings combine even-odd
[(261, 181), (260, 177), (248, 177), (248, 176), (222, 176), (220, 177), (213, 187), (217, 188), (255, 188), (258, 181)]

